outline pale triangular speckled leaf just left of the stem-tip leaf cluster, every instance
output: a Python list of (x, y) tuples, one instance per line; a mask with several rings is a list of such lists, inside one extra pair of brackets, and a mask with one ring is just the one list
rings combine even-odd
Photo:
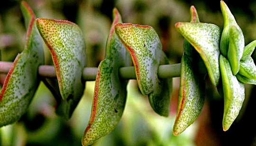
[(206, 23), (179, 22), (177, 31), (199, 52), (214, 86), (219, 84), (219, 39), (218, 26)]

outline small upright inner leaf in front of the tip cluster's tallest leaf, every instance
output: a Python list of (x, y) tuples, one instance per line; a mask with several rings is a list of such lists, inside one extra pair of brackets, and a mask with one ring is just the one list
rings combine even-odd
[(240, 60), (245, 47), (244, 36), (236, 26), (230, 26), (229, 30), (229, 51), (228, 60), (233, 75), (236, 75), (240, 68)]

